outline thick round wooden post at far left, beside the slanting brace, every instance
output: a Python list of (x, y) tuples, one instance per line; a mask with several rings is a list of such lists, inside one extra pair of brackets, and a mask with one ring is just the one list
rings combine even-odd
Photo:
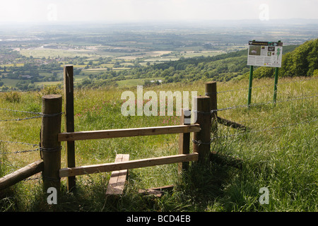
[(59, 169), (61, 169), (61, 143), (57, 135), (61, 133), (61, 95), (42, 97), (41, 155), (43, 160), (43, 189), (57, 189), (61, 186)]

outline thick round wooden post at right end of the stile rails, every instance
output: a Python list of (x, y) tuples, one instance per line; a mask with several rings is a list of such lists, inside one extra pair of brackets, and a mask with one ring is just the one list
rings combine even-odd
[(194, 113), (196, 124), (199, 124), (201, 131), (194, 133), (194, 153), (199, 153), (199, 162), (209, 159), (211, 144), (211, 111), (210, 97), (194, 97)]

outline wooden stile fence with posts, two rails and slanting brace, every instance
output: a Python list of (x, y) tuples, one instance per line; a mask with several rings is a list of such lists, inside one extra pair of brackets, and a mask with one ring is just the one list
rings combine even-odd
[[(186, 170), (190, 161), (204, 164), (211, 153), (211, 134), (216, 133), (218, 123), (233, 126), (233, 123), (217, 116), (216, 82), (205, 84), (205, 95), (194, 97), (193, 111), (196, 113), (195, 124), (187, 124), (185, 119), (189, 109), (182, 109), (180, 125), (155, 126), (134, 129), (111, 129), (99, 131), (74, 131), (73, 114), (73, 66), (64, 66), (64, 117), (65, 132), (61, 133), (61, 95), (42, 97), (42, 126), (40, 132), (41, 160), (0, 179), (0, 190), (16, 184), (33, 174), (42, 172), (43, 189), (54, 187), (59, 191), (61, 178), (67, 177), (69, 190), (76, 187), (76, 176), (114, 170), (134, 169), (178, 163), (179, 171)], [(211, 112), (212, 111), (212, 112)], [(179, 133), (178, 155), (153, 157), (126, 162), (111, 162), (99, 165), (76, 166), (75, 141), (90, 139), (119, 138), (131, 136), (155, 136)], [(193, 134), (193, 152), (190, 153), (190, 133)], [(66, 144), (66, 167), (61, 168), (61, 142)]]

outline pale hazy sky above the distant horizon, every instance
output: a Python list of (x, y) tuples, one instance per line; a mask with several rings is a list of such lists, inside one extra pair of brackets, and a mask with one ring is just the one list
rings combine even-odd
[(0, 22), (318, 19), (318, 0), (1, 0)]

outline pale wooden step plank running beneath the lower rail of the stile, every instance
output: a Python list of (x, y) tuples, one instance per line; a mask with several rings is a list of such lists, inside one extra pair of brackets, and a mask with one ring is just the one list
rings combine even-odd
[[(129, 155), (118, 154), (116, 155), (115, 162), (129, 161)], [(121, 195), (124, 191), (124, 185), (126, 183), (126, 177), (128, 174), (127, 169), (116, 170), (112, 172), (110, 176), (110, 182), (107, 186), (107, 195)]]

